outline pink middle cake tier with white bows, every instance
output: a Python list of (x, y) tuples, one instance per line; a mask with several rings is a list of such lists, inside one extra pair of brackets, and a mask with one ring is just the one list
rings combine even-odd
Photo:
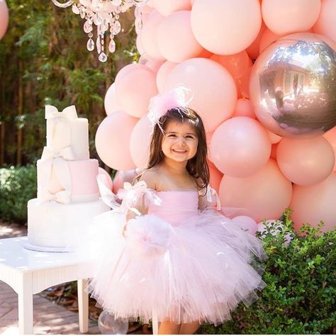
[(96, 201), (98, 160), (40, 159), (38, 167), (38, 201), (83, 203)]

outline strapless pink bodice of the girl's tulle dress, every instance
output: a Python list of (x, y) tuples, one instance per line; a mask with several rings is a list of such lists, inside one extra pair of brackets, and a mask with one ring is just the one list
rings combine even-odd
[(198, 215), (198, 193), (194, 190), (155, 191), (162, 203), (150, 203), (148, 214), (157, 215), (173, 226)]

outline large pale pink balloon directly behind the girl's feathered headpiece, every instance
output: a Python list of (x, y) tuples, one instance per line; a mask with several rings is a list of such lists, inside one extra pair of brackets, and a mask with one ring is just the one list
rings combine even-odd
[(172, 69), (164, 91), (183, 85), (194, 97), (190, 107), (200, 114), (206, 132), (232, 116), (237, 101), (237, 89), (227, 69), (206, 58), (192, 58)]

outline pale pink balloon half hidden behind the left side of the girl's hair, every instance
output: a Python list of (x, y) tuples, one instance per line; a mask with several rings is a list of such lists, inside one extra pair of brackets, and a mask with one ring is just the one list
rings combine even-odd
[(138, 168), (146, 168), (150, 158), (150, 139), (152, 126), (147, 115), (143, 116), (130, 135), (130, 156)]

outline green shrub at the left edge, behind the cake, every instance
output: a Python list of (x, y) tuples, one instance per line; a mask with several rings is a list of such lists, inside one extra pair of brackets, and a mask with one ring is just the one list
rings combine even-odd
[(27, 222), (27, 202), (36, 197), (36, 166), (0, 169), (0, 218), (7, 222)]

